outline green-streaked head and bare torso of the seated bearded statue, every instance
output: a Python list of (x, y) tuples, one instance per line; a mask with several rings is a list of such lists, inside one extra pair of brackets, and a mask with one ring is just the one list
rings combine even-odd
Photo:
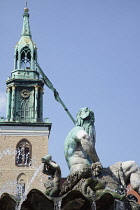
[(82, 108), (77, 113), (76, 126), (65, 140), (64, 153), (71, 173), (99, 162), (95, 141), (94, 113), (87, 107)]

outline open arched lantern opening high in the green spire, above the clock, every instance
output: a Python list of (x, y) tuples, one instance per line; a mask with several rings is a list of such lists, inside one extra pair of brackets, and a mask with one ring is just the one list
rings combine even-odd
[(31, 66), (31, 50), (29, 47), (24, 47), (21, 50), (21, 69), (29, 69)]

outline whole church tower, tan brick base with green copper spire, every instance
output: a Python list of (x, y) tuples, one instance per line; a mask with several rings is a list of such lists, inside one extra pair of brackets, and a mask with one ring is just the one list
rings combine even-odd
[[(44, 191), (47, 177), (40, 171), (48, 153), (51, 123), (43, 121), (44, 82), (37, 71), (29, 10), (24, 8), (21, 38), (15, 46), (14, 70), (6, 81), (6, 120), (0, 122), (0, 192), (21, 197), (32, 188)], [(40, 176), (41, 175), (41, 176)]]

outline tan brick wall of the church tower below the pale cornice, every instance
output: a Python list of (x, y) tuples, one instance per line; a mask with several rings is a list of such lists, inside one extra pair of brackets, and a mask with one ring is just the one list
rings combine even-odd
[[(32, 161), (30, 166), (17, 166), (15, 164), (16, 145), (21, 139), (27, 139), (32, 147)], [(4, 192), (17, 195), (17, 180), (19, 177), (25, 182), (25, 189), (41, 165), (41, 158), (48, 154), (48, 135), (45, 136), (10, 136), (0, 134), (0, 195)], [(44, 182), (47, 176), (38, 172), (30, 189), (36, 188), (45, 191)]]

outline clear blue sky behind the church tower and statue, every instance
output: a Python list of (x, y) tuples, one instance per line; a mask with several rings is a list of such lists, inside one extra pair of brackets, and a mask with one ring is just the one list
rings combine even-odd
[[(5, 80), (14, 66), (25, 1), (1, 1), (0, 116), (5, 116)], [(140, 1), (28, 1), (38, 63), (75, 117), (95, 113), (96, 150), (103, 166), (135, 160), (140, 165)], [(45, 87), (44, 118), (52, 130), (49, 154), (69, 173), (64, 141), (71, 119)]]

